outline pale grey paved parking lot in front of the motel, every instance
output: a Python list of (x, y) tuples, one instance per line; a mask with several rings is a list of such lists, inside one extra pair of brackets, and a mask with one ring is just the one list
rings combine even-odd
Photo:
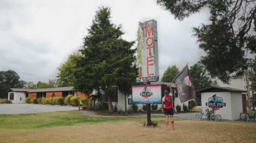
[(78, 107), (48, 106), (38, 104), (0, 104), (0, 114), (23, 114), (74, 110), (78, 110)]

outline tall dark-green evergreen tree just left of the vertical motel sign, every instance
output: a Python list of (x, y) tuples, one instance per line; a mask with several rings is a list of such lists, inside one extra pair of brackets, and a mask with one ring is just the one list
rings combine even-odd
[(83, 55), (74, 69), (74, 87), (84, 93), (93, 88), (102, 89), (108, 96), (108, 109), (113, 112), (111, 94), (114, 86), (121, 93), (130, 95), (131, 85), (136, 82), (134, 42), (123, 40), (121, 25), (110, 21), (110, 8), (101, 7), (96, 12), (93, 24), (84, 37), (80, 50)]

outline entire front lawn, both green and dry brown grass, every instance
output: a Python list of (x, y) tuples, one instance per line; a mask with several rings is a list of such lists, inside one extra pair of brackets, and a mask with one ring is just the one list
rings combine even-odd
[(256, 140), (256, 122), (174, 118), (175, 130), (166, 131), (165, 116), (151, 116), (151, 120), (158, 125), (143, 126), (147, 117), (91, 117), (78, 111), (0, 114), (0, 143), (252, 143)]

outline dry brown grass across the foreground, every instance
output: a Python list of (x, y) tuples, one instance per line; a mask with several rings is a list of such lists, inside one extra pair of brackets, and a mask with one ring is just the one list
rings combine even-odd
[[(163, 120), (164, 117), (158, 118)], [(15, 124), (15, 123), (13, 123)], [(0, 129), (0, 143), (253, 143), (256, 124), (176, 120), (175, 130), (165, 130), (165, 123), (143, 126), (132, 119), (108, 123), (81, 123), (40, 129)]]

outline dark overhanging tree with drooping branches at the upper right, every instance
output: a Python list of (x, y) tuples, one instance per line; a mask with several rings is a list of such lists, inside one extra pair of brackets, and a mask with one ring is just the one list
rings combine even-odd
[[(194, 27), (201, 62), (212, 78), (229, 83), (232, 73), (248, 69), (247, 53), (256, 54), (256, 0), (157, 0), (175, 19), (183, 20), (208, 8), (209, 24)], [(254, 25), (253, 25), (254, 23)]]

